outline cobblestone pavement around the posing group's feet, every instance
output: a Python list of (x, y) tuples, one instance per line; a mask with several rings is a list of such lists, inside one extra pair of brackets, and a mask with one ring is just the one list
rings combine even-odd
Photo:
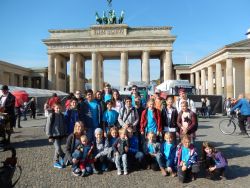
[[(60, 170), (52, 166), (54, 148), (44, 133), (46, 120), (40, 117), (22, 121), (23, 128), (15, 129), (12, 135), (12, 145), (17, 149), (18, 163), (23, 169), (16, 187), (248, 187), (250, 138), (220, 133), (218, 123), (222, 118), (200, 119), (196, 145), (200, 148), (202, 141), (210, 141), (225, 154), (229, 162), (227, 180), (212, 181), (201, 174), (196, 181), (187, 184), (179, 183), (177, 178), (162, 177), (160, 172), (152, 170), (135, 171), (127, 176), (117, 176), (116, 171), (111, 171), (101, 175), (74, 177), (69, 167)], [(9, 151), (1, 152), (0, 161), (9, 155)]]

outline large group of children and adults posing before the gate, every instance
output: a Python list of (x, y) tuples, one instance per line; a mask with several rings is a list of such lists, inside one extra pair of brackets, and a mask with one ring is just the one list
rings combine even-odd
[[(157, 91), (145, 102), (134, 85), (131, 96), (122, 100), (107, 84), (95, 95), (87, 90), (85, 98), (80, 91), (71, 94), (65, 113), (60, 101), (54, 100), (46, 123), (46, 134), (55, 148), (54, 167), (71, 165), (75, 176), (97, 174), (115, 166), (118, 175), (151, 168), (163, 176), (177, 175), (182, 182), (196, 179), (196, 109), (185, 91), (179, 95), (175, 106), (171, 97), (163, 100)], [(226, 159), (211, 144), (203, 146), (208, 176), (220, 178)]]

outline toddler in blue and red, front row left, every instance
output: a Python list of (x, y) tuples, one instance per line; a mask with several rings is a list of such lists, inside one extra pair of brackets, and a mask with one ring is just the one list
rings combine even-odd
[[(98, 174), (98, 171), (94, 166), (94, 159), (92, 159), (93, 145), (88, 142), (86, 135), (82, 135), (81, 144), (75, 149), (72, 154), (72, 174), (75, 176), (86, 176), (91, 172), (91, 168), (94, 174)], [(90, 168), (89, 168), (90, 166)]]

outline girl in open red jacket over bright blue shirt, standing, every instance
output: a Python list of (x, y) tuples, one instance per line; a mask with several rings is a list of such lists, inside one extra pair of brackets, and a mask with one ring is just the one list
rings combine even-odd
[(160, 111), (155, 108), (154, 99), (149, 99), (148, 108), (142, 112), (140, 131), (142, 135), (153, 132), (157, 136), (162, 131)]

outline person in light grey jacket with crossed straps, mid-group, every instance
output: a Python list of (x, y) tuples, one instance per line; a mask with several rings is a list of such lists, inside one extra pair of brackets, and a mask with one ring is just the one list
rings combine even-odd
[(125, 98), (125, 106), (121, 108), (118, 116), (118, 122), (121, 127), (127, 129), (131, 127), (136, 131), (136, 126), (139, 122), (139, 115), (135, 107), (132, 106), (131, 97)]

